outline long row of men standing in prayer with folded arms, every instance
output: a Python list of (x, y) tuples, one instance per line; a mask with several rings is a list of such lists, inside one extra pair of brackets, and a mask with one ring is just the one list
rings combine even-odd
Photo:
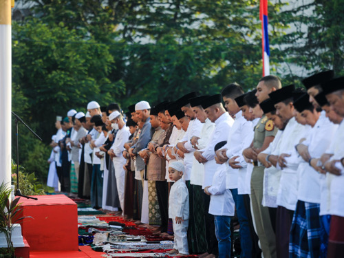
[[(61, 186), (68, 189), (67, 178), (72, 182), (78, 174), (79, 195), (84, 195), (89, 178), (94, 207), (120, 207), (125, 215), (166, 231), (173, 184), (166, 168), (182, 160), (191, 253), (230, 257), (228, 230), (236, 210), (241, 257), (260, 252), (264, 257), (341, 257), (344, 83), (333, 77), (328, 71), (306, 78), (307, 92), (294, 85), (282, 88), (277, 76), (265, 76), (246, 94), (233, 83), (221, 94), (193, 92), (153, 108), (141, 101), (129, 107), (129, 127), (120, 108), (111, 108), (115, 104), (100, 116), (100, 106), (91, 102), (85, 120), (80, 112), (73, 115), (75, 125), (89, 130), (85, 136), (68, 131), (73, 116), (63, 120), (66, 136), (61, 140), (56, 134)], [(224, 146), (215, 152), (219, 142)], [(78, 164), (70, 158), (73, 172), (73, 166), (63, 169), (63, 160), (75, 145), (80, 154)], [(103, 167), (97, 158), (103, 158)], [(226, 171), (225, 191), (213, 191), (219, 170)]]

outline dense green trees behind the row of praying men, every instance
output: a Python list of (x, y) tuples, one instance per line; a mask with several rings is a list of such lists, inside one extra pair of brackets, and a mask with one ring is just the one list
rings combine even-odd
[[(46, 176), (56, 115), (89, 100), (124, 107), (191, 90), (215, 94), (261, 77), (258, 0), (20, 0), (30, 15), (12, 26), (13, 109), (20, 164)], [(283, 84), (323, 69), (343, 74), (344, 0), (270, 1), (272, 74)]]

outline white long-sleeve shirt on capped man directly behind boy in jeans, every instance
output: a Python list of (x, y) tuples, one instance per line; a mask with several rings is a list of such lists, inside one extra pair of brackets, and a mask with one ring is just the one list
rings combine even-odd
[(205, 186), (208, 186), (209, 182), (213, 182), (213, 175), (215, 174), (215, 171), (219, 166), (219, 164), (216, 164), (214, 159), (215, 145), (219, 142), (227, 140), (230, 127), (232, 127), (233, 123), (233, 118), (231, 118), (227, 112), (225, 112), (224, 114), (222, 114), (222, 116), (215, 120), (215, 129), (211, 135), (211, 140), (207, 144), (206, 148), (201, 150), (203, 157), (208, 160), (204, 163), (202, 189), (204, 189)]

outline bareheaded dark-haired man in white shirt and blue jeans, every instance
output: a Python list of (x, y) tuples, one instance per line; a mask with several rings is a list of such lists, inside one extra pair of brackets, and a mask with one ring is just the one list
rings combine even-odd
[[(235, 101), (235, 98), (243, 94), (243, 89), (237, 83), (228, 85), (221, 92), (225, 107), (230, 116), (235, 118), (235, 121), (228, 133), (227, 144), (223, 149), (217, 151), (217, 157), (220, 162), (226, 163), (226, 189), (230, 189), (237, 208), (237, 217), (240, 224), (241, 256), (252, 257), (252, 239), (250, 237), (251, 233), (248, 215), (244, 206), (244, 190), (242, 187), (239, 189), (239, 177), (241, 177), (241, 181), (243, 181), (244, 178), (246, 179), (247, 163), (243, 162), (242, 166), (239, 164), (235, 169), (228, 165), (229, 159), (234, 158), (234, 160), (236, 160), (240, 156), (242, 157), (241, 153), (243, 149), (246, 149), (250, 144), (246, 143), (247, 145), (244, 146), (246, 139), (250, 133), (252, 133), (252, 122), (246, 120), (244, 116), (242, 116), (239, 105), (237, 105)], [(244, 158), (242, 158), (242, 160), (244, 161)]]

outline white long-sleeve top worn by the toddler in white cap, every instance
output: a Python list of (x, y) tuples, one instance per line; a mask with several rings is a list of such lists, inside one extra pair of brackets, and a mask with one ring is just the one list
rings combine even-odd
[(189, 191), (182, 178), (171, 186), (169, 195), (169, 218), (175, 217), (189, 219)]

